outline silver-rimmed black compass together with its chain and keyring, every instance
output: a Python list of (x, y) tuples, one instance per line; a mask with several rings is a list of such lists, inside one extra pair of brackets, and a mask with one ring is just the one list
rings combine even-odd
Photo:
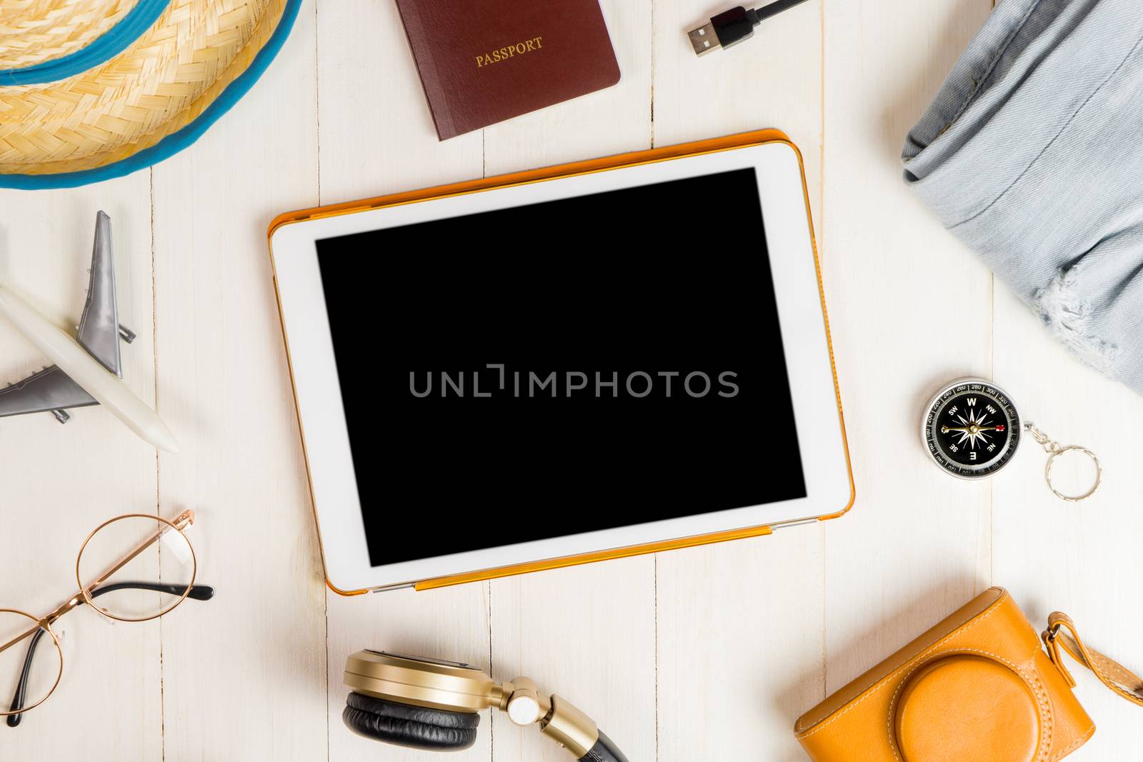
[[(1078, 503), (1095, 494), (1103, 480), (1095, 454), (1086, 447), (1056, 442), (1030, 420), (1022, 425), (1012, 398), (992, 382), (960, 378), (945, 384), (921, 416), (921, 440), (929, 457), (942, 471), (960, 479), (985, 479), (1004, 468), (1016, 455), (1024, 432), (1048, 454), (1044, 479), (1053, 495)], [(1085, 455), (1095, 464), (1095, 482), (1086, 492), (1066, 495), (1052, 482), (1052, 467), (1066, 452)]]

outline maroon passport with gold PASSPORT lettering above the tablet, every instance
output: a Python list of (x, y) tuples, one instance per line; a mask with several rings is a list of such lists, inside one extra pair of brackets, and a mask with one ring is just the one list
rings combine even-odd
[(397, 0), (440, 139), (620, 81), (599, 0)]

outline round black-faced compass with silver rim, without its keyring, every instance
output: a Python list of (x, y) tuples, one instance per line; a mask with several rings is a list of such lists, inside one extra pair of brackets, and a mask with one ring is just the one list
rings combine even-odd
[(1020, 441), (1020, 416), (1002, 391), (965, 380), (942, 390), (926, 411), (925, 444), (942, 468), (967, 479), (1008, 464)]

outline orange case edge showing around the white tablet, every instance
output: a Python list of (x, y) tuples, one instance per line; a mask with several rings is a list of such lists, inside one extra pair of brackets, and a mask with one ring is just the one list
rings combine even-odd
[[(462, 195), (465, 193), (480, 193), (482, 191), (490, 191), (499, 187), (507, 187), (513, 185), (525, 185), (529, 183), (543, 183), (545, 181), (555, 179), (560, 177), (569, 177), (574, 175), (589, 175), (593, 173), (607, 171), (609, 169), (618, 169), (622, 167), (634, 167), (638, 165), (649, 165), (660, 161), (669, 161), (671, 159), (679, 159), (682, 157), (695, 157), (706, 153), (718, 153), (721, 151), (730, 151), (734, 149), (742, 149), (746, 146), (764, 145), (767, 143), (784, 143), (789, 145), (798, 157), (798, 163), (801, 167), (801, 184), (802, 193), (806, 198), (806, 225), (809, 227), (809, 238), (814, 248), (814, 264), (817, 270), (817, 287), (818, 294), (822, 299), (822, 314), (825, 319), (825, 339), (830, 347), (830, 367), (833, 370), (833, 390), (837, 395), (838, 402), (838, 422), (841, 426), (841, 440), (846, 448), (846, 467), (849, 472), (849, 503), (836, 513), (831, 513), (824, 516), (812, 516), (806, 519), (793, 519), (789, 521), (776, 522), (773, 524), (761, 524), (758, 527), (748, 527), (744, 529), (734, 529), (721, 532), (713, 532), (709, 535), (695, 535), (692, 537), (680, 537), (670, 540), (663, 540), (658, 543), (648, 543), (645, 545), (631, 545), (628, 547), (610, 548), (607, 551), (598, 551), (594, 553), (582, 553), (578, 555), (560, 556), (554, 559), (544, 559), (541, 561), (530, 561), (528, 563), (519, 563), (506, 567), (496, 567), (491, 569), (481, 569), (478, 571), (470, 571), (465, 573), (450, 575), (446, 577), (434, 577), (431, 579), (416, 579), (408, 580), (401, 585), (394, 585), (391, 587), (401, 587), (413, 585), (416, 589), (430, 589), (433, 587), (445, 587), (448, 585), (458, 585), (462, 583), (478, 581), (481, 579), (493, 579), (496, 577), (507, 577), (510, 575), (519, 575), (528, 571), (541, 571), (543, 569), (557, 569), (560, 567), (569, 567), (578, 563), (592, 563), (594, 561), (605, 561), (607, 559), (622, 559), (631, 555), (640, 555), (642, 553), (657, 553), (658, 551), (670, 551), (680, 547), (692, 547), (694, 545), (705, 545), (709, 543), (721, 543), (729, 539), (740, 539), (743, 537), (757, 537), (760, 535), (770, 535), (774, 529), (783, 526), (793, 526), (800, 523), (810, 523), (815, 521), (824, 521), (825, 519), (836, 519), (849, 511), (853, 507), (854, 500), (856, 499), (856, 488), (854, 487), (853, 480), (853, 466), (849, 462), (849, 444), (846, 440), (845, 430), (845, 418), (841, 414), (841, 394), (838, 387), (838, 374), (837, 366), (833, 362), (833, 345), (830, 342), (830, 323), (829, 316), (825, 313), (825, 290), (822, 286), (822, 268), (821, 262), (817, 258), (817, 242), (814, 238), (814, 224), (809, 216), (809, 192), (806, 189), (806, 170), (805, 163), (802, 162), (801, 152), (798, 150), (789, 137), (784, 133), (776, 129), (764, 129), (754, 130), (751, 133), (741, 133), (738, 135), (729, 135), (726, 137), (711, 138), (709, 141), (697, 141), (695, 143), (681, 143), (679, 145), (664, 146), (662, 149), (650, 149), (648, 151), (633, 151), (631, 153), (621, 153), (614, 157), (605, 157), (602, 159), (591, 159), (589, 161), (576, 161), (566, 165), (558, 165), (555, 167), (545, 167), (543, 169), (529, 169), (521, 173), (512, 173), (509, 175), (499, 175), (497, 177), (483, 177), (480, 179), (465, 181), (463, 183), (453, 183), (450, 185), (439, 185), (437, 187), (423, 189), (419, 191), (408, 191), (403, 193), (392, 193), (390, 195), (381, 195), (374, 199), (363, 199), (361, 201), (350, 201), (346, 203), (335, 203), (326, 207), (315, 207), (313, 209), (302, 209), (299, 211), (290, 211), (277, 217), (271, 224), (267, 236), (271, 239), (270, 246), (270, 259), (273, 266), (273, 244), (272, 239), (274, 231), (277, 231), (282, 225), (290, 225), (294, 223), (305, 222), (310, 219), (319, 219), (322, 217), (334, 217), (338, 215), (351, 215), (358, 211), (369, 211), (373, 209), (382, 209), (385, 207), (395, 207), (399, 204), (415, 203), (417, 201), (427, 201), (431, 199), (442, 199), (447, 196)], [(286, 323), (285, 318), (281, 314), (281, 295), (278, 292), (278, 281), (277, 281), (277, 268), (274, 270), (274, 292), (278, 295), (278, 312), (279, 319), (282, 321), (282, 336), (286, 337)], [(290, 370), (290, 382), (294, 380), (294, 361), (289, 353), (289, 342), (286, 340), (286, 358)], [(301, 410), (297, 408), (297, 395), (295, 392), (295, 410), (298, 415), (298, 427), (302, 428), (302, 451), (306, 459), (306, 471), (309, 476), (309, 454), (305, 451), (305, 431), (302, 427)], [(310, 499), (311, 506), (314, 502), (313, 496), (313, 480), (310, 478)], [(314, 521), (318, 522), (317, 510), (314, 508)], [(318, 522), (318, 534), (321, 534), (321, 526)], [(322, 548), (325, 553), (325, 548)], [(342, 595), (360, 595), (362, 593), (370, 592), (369, 589), (358, 589), (358, 591), (344, 591), (334, 587), (329, 579), (326, 579), (326, 584), (331, 591)]]

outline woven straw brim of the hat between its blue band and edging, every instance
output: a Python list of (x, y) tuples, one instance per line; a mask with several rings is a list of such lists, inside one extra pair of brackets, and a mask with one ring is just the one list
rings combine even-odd
[(0, 88), (0, 174), (105, 167), (177, 133), (250, 66), (286, 5), (170, 0), (158, 22), (110, 61), (57, 82)]

